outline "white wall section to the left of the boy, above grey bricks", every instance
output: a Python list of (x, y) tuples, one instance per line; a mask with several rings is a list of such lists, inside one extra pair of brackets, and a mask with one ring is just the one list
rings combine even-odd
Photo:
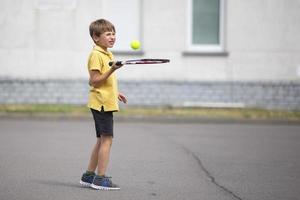
[(0, 76), (86, 78), (88, 26), (101, 1), (75, 2), (73, 8), (42, 9), (38, 0), (2, 0)]

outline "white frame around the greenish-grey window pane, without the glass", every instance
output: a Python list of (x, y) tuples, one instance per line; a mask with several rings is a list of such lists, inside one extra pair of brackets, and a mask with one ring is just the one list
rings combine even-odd
[(225, 16), (226, 16), (226, 0), (220, 1), (219, 14), (219, 44), (193, 44), (193, 0), (188, 0), (187, 5), (187, 40), (185, 53), (211, 53), (220, 54), (225, 52)]

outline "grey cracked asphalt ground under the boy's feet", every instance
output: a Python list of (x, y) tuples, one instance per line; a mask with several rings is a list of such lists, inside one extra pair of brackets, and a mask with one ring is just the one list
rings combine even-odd
[(117, 121), (108, 175), (82, 188), (91, 119), (0, 118), (0, 199), (296, 200), (300, 125)]

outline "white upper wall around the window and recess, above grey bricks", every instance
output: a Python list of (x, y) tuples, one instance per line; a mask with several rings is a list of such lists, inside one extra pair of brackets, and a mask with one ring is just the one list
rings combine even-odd
[[(87, 78), (86, 59), (93, 46), (88, 26), (103, 16), (109, 1), (56, 0), (65, 4), (50, 9), (39, 2), (0, 2), (0, 77)], [(227, 0), (225, 56), (183, 54), (186, 2), (142, 1), (144, 54), (115, 57), (170, 58), (171, 63), (124, 67), (120, 79), (300, 80), (300, 0)]]

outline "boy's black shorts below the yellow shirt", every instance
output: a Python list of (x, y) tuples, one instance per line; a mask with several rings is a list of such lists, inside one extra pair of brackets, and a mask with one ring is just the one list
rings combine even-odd
[(96, 128), (96, 136), (99, 138), (103, 136), (114, 136), (113, 126), (113, 112), (104, 112), (91, 109)]

